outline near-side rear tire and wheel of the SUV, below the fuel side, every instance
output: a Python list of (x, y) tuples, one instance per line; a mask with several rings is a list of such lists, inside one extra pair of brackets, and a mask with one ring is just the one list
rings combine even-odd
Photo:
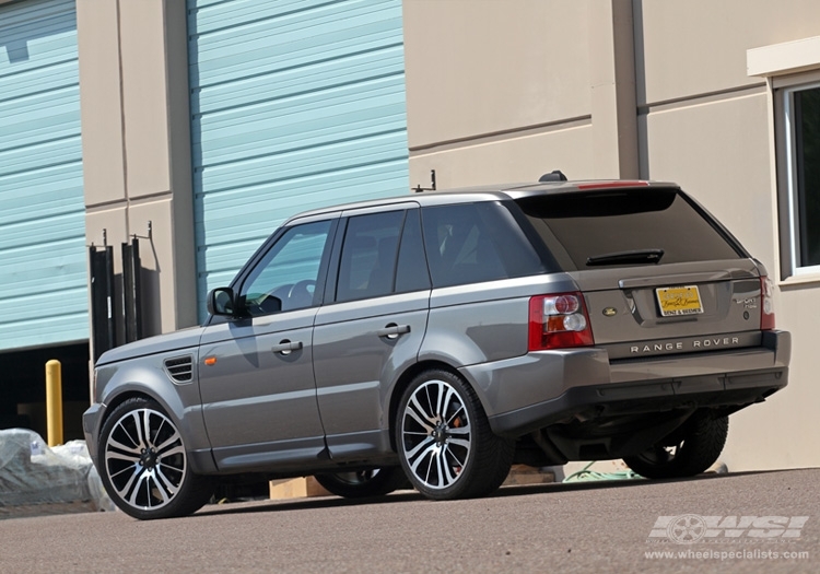
[(476, 393), (448, 371), (425, 371), (410, 383), (395, 432), (407, 478), (429, 499), (482, 496), (509, 473), (515, 443), (492, 433)]

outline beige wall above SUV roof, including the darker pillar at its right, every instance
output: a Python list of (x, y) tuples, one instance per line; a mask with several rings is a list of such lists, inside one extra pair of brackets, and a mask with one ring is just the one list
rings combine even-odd
[(402, 7), (412, 185), (637, 176), (629, 0)]

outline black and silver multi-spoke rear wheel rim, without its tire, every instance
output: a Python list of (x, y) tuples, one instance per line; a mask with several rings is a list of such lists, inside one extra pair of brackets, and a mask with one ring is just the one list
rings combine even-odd
[(413, 482), (433, 490), (454, 485), (472, 453), (472, 424), (459, 391), (445, 380), (427, 380), (400, 414), (400, 448)]

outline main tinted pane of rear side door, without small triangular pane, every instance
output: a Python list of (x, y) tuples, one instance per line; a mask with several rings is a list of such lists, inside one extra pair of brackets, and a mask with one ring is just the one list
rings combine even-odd
[(350, 218), (341, 250), (336, 301), (393, 293), (403, 219), (403, 211)]

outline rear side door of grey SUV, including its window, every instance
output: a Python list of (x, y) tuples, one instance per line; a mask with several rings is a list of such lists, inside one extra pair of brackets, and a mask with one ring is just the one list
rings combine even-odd
[(345, 212), (316, 316), (314, 370), (327, 445), (336, 459), (388, 453), (386, 398), (415, 362), (430, 276), (415, 203)]

